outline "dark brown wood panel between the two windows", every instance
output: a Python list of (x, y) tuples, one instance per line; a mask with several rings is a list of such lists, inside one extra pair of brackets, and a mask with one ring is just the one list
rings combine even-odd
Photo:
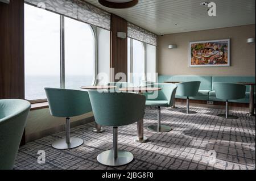
[(122, 72), (125, 73), (127, 77), (127, 37), (126, 39), (121, 39), (117, 37), (117, 32), (125, 32), (127, 35), (127, 21), (112, 14), (110, 32), (110, 68), (114, 68), (114, 74)]

